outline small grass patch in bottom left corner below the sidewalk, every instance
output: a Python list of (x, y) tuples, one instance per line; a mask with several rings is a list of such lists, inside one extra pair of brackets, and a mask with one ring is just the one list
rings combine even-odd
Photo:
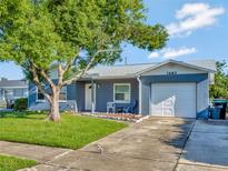
[(0, 171), (16, 171), (36, 165), (33, 160), (19, 159), (14, 157), (0, 155)]

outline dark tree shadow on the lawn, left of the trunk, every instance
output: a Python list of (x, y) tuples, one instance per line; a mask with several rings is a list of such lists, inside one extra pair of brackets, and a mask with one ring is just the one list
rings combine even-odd
[(42, 117), (32, 117), (32, 115), (43, 115), (47, 114), (44, 111), (34, 112), (34, 111), (10, 111), (10, 112), (0, 112), (1, 118), (14, 118), (14, 119), (36, 119), (36, 120), (43, 120)]

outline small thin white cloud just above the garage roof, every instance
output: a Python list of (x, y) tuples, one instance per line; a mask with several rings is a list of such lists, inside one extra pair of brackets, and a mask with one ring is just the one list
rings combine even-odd
[(166, 48), (161, 51), (156, 51), (156, 52), (151, 52), (148, 58), (149, 59), (155, 59), (155, 58), (163, 58), (163, 59), (175, 59), (177, 57), (180, 56), (186, 56), (186, 54), (191, 54), (191, 53), (196, 53), (197, 50), (196, 48), (186, 48), (186, 47), (181, 47), (181, 48)]

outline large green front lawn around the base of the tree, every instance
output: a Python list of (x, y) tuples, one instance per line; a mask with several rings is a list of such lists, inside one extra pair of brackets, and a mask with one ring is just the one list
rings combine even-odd
[(127, 127), (110, 120), (62, 114), (61, 121), (46, 121), (44, 113), (0, 113), (0, 140), (79, 149)]

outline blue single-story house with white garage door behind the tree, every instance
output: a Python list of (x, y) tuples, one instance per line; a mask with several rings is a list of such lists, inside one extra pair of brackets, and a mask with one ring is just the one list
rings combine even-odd
[[(62, 89), (60, 108), (70, 102), (78, 111), (106, 112), (108, 102), (127, 108), (137, 100), (143, 115), (206, 118), (215, 72), (214, 60), (97, 67)], [(29, 92), (31, 110), (48, 108), (34, 84)]]

